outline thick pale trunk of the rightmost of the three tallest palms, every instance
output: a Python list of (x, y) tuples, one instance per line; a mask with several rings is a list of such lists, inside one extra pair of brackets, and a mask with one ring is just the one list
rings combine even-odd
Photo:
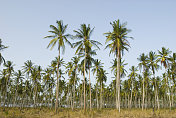
[(120, 112), (120, 50), (118, 49), (118, 53), (116, 54), (117, 58), (117, 78), (116, 78), (116, 108)]

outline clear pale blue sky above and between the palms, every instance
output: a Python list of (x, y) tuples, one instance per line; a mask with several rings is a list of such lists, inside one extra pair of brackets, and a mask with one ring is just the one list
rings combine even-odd
[[(43, 39), (49, 34), (49, 25), (63, 20), (68, 24), (67, 33), (74, 34), (73, 30), (80, 24), (90, 24), (95, 27), (92, 39), (103, 44), (95, 58), (104, 63), (109, 73), (107, 83), (110, 83), (109, 67), (114, 57), (109, 57), (109, 50), (104, 50), (103, 35), (111, 31), (110, 22), (120, 19), (132, 30), (129, 36), (134, 40), (123, 57), (128, 70), (132, 65), (137, 66), (137, 58), (143, 52), (161, 50), (163, 46), (176, 52), (175, 6), (174, 0), (0, 0), (0, 38), (9, 46), (3, 55), (14, 62), (16, 70), (27, 60), (45, 68), (58, 55), (56, 48), (52, 51), (46, 48), (50, 40)], [(66, 62), (74, 56), (73, 52), (66, 48), (62, 55)], [(92, 81), (95, 82), (93, 76)]]

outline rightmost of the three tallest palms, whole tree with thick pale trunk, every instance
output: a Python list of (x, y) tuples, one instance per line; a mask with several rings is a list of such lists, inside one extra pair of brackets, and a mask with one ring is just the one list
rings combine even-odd
[[(110, 23), (113, 31), (104, 33), (106, 36), (106, 43), (110, 42), (106, 48), (110, 48), (110, 54), (115, 53), (117, 60), (117, 75), (116, 75), (116, 108), (120, 112), (120, 59), (123, 55), (124, 50), (128, 51), (130, 46), (128, 42), (128, 33), (131, 31), (126, 28), (126, 23), (120, 24), (120, 20)], [(106, 49), (105, 48), (105, 49)]]

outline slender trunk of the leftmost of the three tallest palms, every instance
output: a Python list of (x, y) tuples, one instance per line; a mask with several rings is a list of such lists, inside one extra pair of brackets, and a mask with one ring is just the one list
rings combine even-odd
[(59, 46), (59, 55), (57, 60), (57, 83), (56, 83), (56, 103), (55, 103), (55, 113), (57, 113), (58, 109), (58, 91), (59, 91), (59, 63), (60, 63), (60, 46)]

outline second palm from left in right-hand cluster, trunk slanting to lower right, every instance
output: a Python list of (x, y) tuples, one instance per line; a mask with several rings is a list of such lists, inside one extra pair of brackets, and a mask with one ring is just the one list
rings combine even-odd
[(159, 65), (158, 65), (157, 55), (155, 54), (155, 52), (152, 52), (152, 51), (149, 52), (148, 64), (149, 64), (149, 68), (152, 70), (152, 74), (154, 78), (155, 101), (157, 101), (158, 109), (159, 109), (158, 91), (157, 91), (156, 80), (155, 80), (155, 70), (157, 71), (159, 69)]

